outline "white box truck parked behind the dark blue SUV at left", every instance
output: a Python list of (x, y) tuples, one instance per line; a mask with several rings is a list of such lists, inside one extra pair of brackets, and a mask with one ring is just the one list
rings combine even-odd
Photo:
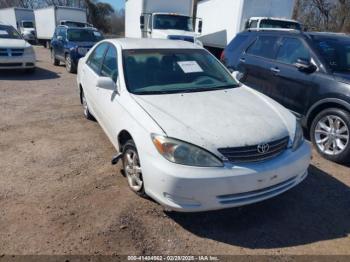
[(81, 8), (50, 6), (34, 10), (38, 42), (49, 47), (56, 26), (86, 25), (86, 10)]

